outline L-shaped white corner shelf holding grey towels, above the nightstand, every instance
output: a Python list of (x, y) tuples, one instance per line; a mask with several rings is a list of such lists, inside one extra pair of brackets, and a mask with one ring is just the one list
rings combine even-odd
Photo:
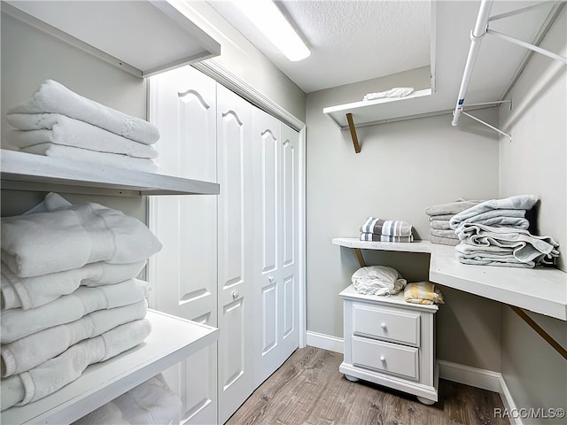
[(556, 268), (471, 266), (456, 259), (453, 246), (428, 241), (365, 242), (336, 237), (332, 243), (359, 250), (430, 253), (431, 282), (567, 321), (567, 273)]

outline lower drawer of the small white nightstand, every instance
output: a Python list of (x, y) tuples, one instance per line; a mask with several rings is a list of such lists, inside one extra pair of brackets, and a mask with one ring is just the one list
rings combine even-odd
[(414, 347), (352, 336), (353, 365), (419, 380), (419, 354)]

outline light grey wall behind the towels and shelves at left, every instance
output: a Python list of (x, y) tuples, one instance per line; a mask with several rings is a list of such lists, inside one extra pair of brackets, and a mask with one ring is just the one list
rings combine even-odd
[[(27, 101), (45, 79), (52, 79), (84, 97), (121, 112), (146, 118), (145, 81), (2, 14), (2, 141), (10, 129), (6, 111)], [(3, 147), (7, 147), (4, 146)], [(84, 197), (67, 195), (74, 203), (97, 202), (146, 220), (144, 197)], [(2, 215), (23, 213), (44, 194), (2, 190)]]

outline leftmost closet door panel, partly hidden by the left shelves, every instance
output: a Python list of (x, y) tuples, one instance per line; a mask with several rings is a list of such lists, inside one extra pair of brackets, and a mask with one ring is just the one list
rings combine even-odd
[[(193, 68), (151, 77), (151, 122), (161, 172), (216, 182), (216, 83)], [(151, 197), (152, 232), (163, 244), (150, 264), (153, 308), (217, 325), (216, 197)], [(168, 369), (183, 401), (181, 423), (217, 423), (216, 344)]]

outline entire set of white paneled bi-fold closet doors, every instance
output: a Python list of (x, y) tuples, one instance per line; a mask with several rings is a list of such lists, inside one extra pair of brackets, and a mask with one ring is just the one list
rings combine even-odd
[(298, 133), (190, 67), (150, 88), (162, 171), (221, 184), (151, 201), (151, 304), (220, 328), (167, 378), (186, 423), (223, 423), (299, 344)]

